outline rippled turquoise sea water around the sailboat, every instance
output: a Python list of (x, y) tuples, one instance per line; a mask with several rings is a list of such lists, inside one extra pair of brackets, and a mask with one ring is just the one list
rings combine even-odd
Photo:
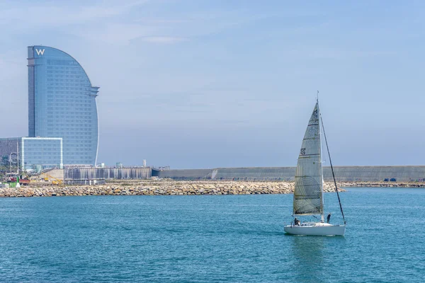
[(348, 190), (345, 237), (285, 235), (292, 195), (0, 199), (0, 282), (424, 282), (425, 190)]

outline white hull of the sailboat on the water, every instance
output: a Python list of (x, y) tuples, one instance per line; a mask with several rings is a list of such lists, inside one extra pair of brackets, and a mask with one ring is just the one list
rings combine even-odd
[(303, 223), (301, 225), (287, 225), (285, 232), (292, 235), (305, 236), (344, 236), (345, 225), (331, 225), (327, 223)]

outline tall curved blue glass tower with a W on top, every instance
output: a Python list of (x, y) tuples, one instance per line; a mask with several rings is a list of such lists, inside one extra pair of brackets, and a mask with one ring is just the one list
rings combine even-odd
[(28, 47), (28, 135), (62, 137), (65, 165), (96, 165), (97, 93), (69, 54)]

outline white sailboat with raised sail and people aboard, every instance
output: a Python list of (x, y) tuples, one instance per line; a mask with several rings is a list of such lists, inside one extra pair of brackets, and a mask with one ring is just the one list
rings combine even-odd
[[(327, 151), (329, 154), (329, 147), (327, 145), (326, 134), (324, 133), (322, 116), (319, 110), (319, 100), (317, 99), (316, 105), (308, 122), (307, 129), (305, 130), (304, 139), (302, 139), (302, 146), (300, 155), (298, 156), (297, 170), (295, 173), (295, 190), (293, 200), (293, 216), (295, 221), (290, 225), (284, 227), (285, 232), (293, 235), (312, 235), (312, 236), (344, 236), (346, 229), (346, 221), (344, 212), (339, 199), (338, 188), (336, 187), (336, 180), (334, 175), (334, 168), (332, 167), (331, 155), (329, 154), (329, 163), (331, 164), (332, 176), (334, 178), (335, 190), (339, 200), (339, 207), (341, 209), (344, 224), (333, 225), (328, 221), (324, 221), (324, 202), (323, 202), (323, 166), (322, 166), (322, 139), (321, 129), (323, 131), (324, 140), (326, 141)], [(317, 222), (303, 222), (297, 220), (297, 216), (312, 215), (320, 221)], [(329, 216), (328, 216), (329, 217)], [(318, 219), (319, 220), (319, 219)]]

